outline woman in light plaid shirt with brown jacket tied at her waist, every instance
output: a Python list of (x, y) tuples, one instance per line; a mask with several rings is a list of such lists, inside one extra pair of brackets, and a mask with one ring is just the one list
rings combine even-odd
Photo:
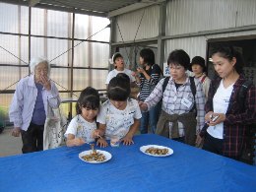
[(162, 99), (156, 133), (194, 146), (196, 134), (205, 123), (205, 96), (202, 84), (197, 79), (192, 79), (196, 89), (196, 94), (193, 96), (191, 79), (186, 75), (190, 58), (184, 50), (172, 51), (167, 63), (171, 77), (165, 90), (162, 89), (164, 82), (162, 79), (151, 95), (139, 104), (142, 110), (147, 111)]

